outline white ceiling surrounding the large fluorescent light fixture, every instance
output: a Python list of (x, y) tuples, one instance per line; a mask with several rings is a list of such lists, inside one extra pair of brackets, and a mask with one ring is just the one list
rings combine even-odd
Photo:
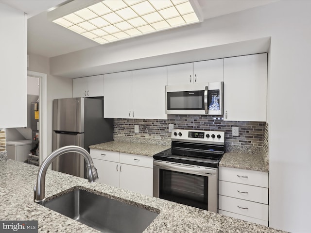
[[(0, 0), (28, 14), (28, 53), (54, 57), (100, 46), (77, 33), (47, 20), (47, 10), (66, 0)], [(203, 18), (230, 14), (276, 0), (198, 0)], [(103, 45), (104, 46), (104, 45)]]

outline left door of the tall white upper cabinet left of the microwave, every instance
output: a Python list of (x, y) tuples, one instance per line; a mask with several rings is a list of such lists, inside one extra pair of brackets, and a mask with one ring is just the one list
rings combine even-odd
[(104, 75), (104, 117), (132, 117), (132, 71)]

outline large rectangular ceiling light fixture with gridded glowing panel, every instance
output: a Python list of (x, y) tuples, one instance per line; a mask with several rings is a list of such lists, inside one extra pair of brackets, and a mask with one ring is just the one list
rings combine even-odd
[(48, 18), (99, 44), (202, 22), (196, 0), (73, 0)]

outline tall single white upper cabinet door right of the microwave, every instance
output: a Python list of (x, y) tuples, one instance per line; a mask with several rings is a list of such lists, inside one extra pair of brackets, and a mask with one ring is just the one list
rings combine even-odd
[(266, 121), (267, 54), (224, 60), (224, 119)]

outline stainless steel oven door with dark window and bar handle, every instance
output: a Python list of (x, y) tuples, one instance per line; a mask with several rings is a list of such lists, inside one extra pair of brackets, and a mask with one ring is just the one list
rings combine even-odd
[(154, 160), (154, 197), (217, 213), (218, 169)]

